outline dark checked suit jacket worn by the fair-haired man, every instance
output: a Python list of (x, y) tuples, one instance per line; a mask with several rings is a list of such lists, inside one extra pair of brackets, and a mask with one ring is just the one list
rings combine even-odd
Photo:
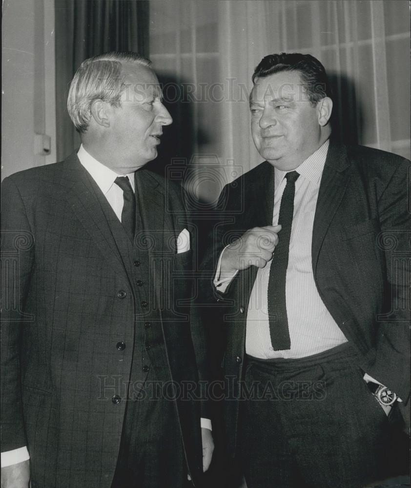
[[(170, 285), (154, 274), (151, 292), (160, 290), (166, 303), (187, 303), (190, 282), (181, 275), (191, 269), (193, 251), (176, 254), (177, 236), (188, 227), (182, 189), (145, 169), (137, 173), (147, 242), (157, 257), (171, 257), (168, 274), (179, 276)], [(69, 479), (73, 487), (108, 488), (126, 404), (113, 404), (112, 395), (127, 395), (137, 306), (103, 194), (73, 155), (6, 178), (2, 197), (1, 450), (27, 445), (39, 486), (46, 473), (56, 486), (68, 486)], [(201, 337), (192, 338), (189, 321), (176, 319), (173, 310), (151, 310), (167, 357), (157, 376), (197, 382)], [(119, 341), (127, 345), (122, 360)], [(155, 353), (147, 354), (156, 364)], [(196, 482), (202, 473), (200, 405), (180, 398), (176, 406)]]

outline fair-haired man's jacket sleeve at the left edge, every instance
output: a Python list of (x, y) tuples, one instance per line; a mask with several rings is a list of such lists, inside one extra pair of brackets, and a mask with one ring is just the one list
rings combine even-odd
[(34, 265), (34, 238), (17, 185), (2, 183), (1, 451), (26, 446), (21, 404), (21, 334), (34, 317), (25, 310)]

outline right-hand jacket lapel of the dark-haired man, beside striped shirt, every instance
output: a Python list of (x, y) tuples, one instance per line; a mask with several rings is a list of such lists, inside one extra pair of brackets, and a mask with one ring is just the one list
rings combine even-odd
[(344, 146), (330, 141), (315, 209), (312, 233), (312, 269), (316, 271), (318, 255), (329, 225), (349, 183), (349, 159)]

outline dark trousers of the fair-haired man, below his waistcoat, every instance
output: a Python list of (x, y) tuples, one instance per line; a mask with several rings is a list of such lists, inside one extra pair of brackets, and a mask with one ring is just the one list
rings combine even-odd
[(111, 488), (182, 488), (187, 485), (184, 448), (174, 402), (153, 368), (129, 395)]

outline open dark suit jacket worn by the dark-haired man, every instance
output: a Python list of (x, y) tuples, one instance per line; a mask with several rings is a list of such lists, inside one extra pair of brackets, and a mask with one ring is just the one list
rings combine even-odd
[[(312, 269), (324, 304), (360, 352), (359, 366), (395, 391), (407, 408), (409, 171), (410, 162), (393, 154), (331, 141), (312, 238)], [(210, 286), (210, 278), (226, 244), (249, 228), (272, 224), (273, 191), (274, 169), (267, 162), (226, 185), (219, 201), (221, 220), (213, 231), (215, 253), (203, 264), (208, 279), (202, 302), (217, 300), (224, 312), (222, 366), (228, 385), (225, 419), (231, 454), (236, 443), (238, 380), (244, 374), (247, 306), (257, 268), (239, 272), (225, 294)]]

